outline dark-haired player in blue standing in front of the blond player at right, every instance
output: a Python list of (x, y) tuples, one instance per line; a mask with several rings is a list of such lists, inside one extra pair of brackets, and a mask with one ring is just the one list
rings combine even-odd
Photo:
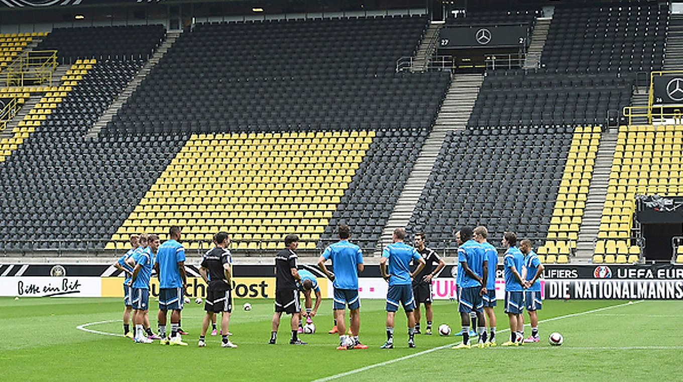
[[(473, 231), (470, 227), (460, 228), (458, 243), (458, 263), (462, 267), (462, 279), (458, 288), (458, 312), (462, 320), (462, 343), (453, 346), (452, 349), (471, 349), (469, 343), (470, 313), (475, 312), (478, 318), (479, 334), (478, 347), (484, 347), (486, 338), (486, 322), (482, 308), (482, 295), (486, 295), (488, 278), (488, 260), (484, 257), (484, 248), (473, 239)], [(486, 270), (486, 271), (484, 271)]]

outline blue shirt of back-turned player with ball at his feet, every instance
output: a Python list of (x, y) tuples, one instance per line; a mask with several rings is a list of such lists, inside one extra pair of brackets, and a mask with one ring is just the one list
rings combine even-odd
[(361, 247), (347, 240), (340, 240), (325, 248), (322, 257), (325, 260), (332, 259), (335, 273), (332, 285), (335, 288), (358, 290), (358, 264), (363, 264)]

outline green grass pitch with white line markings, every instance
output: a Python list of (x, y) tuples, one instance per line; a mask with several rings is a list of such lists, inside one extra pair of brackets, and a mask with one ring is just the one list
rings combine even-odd
[[(253, 304), (250, 312), (242, 303)], [(152, 307), (156, 306), (150, 301)], [(189, 346), (133, 344), (122, 334), (121, 299), (0, 299), (0, 381), (637, 381), (680, 380), (683, 375), (682, 301), (544, 301), (539, 317), (542, 341), (522, 347), (451, 350), (459, 337), (417, 335), (408, 349), (406, 318), (398, 312), (395, 349), (385, 341), (384, 301), (364, 300), (361, 342), (365, 350), (337, 351), (331, 301), (314, 319), (317, 333), (307, 346), (290, 346), (289, 317), (283, 316), (278, 344), (268, 345), (272, 300), (235, 301), (230, 331), (237, 349), (207, 336), (197, 348), (204, 312), (194, 302), (183, 310)], [(496, 308), (498, 336), (507, 340), (507, 317)], [(156, 330), (156, 309), (150, 312)], [(525, 314), (525, 319), (528, 317)], [(458, 331), (453, 301), (434, 303), (434, 325)], [(423, 324), (424, 325), (424, 324)], [(94, 333), (84, 331), (83, 327)], [(550, 346), (559, 331), (565, 342)], [(530, 329), (527, 325), (525, 334)], [(105, 333), (112, 333), (107, 335)], [(118, 335), (118, 336), (117, 336)], [(514, 371), (512, 371), (514, 370)]]

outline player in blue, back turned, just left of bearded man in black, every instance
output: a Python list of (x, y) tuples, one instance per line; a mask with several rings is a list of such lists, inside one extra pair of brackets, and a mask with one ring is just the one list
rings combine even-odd
[[(393, 349), (393, 318), (398, 310), (398, 303), (403, 305), (403, 310), (408, 317), (408, 347), (415, 347), (415, 298), (413, 297), (413, 277), (425, 267), (425, 260), (420, 256), (417, 249), (404, 243), (406, 230), (396, 228), (393, 230), (393, 243), (387, 245), (382, 251), (380, 260), (380, 273), (389, 282), (387, 290), (387, 342), (382, 349)], [(410, 262), (417, 264), (415, 271), (410, 273)], [(387, 269), (389, 271), (387, 271)]]

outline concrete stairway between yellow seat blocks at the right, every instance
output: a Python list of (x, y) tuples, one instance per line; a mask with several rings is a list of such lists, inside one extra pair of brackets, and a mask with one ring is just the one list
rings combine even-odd
[(614, 151), (617, 147), (617, 135), (617, 129), (613, 129), (613, 131), (602, 133), (600, 137), (600, 147), (596, 154), (591, 185), (588, 188), (586, 208), (583, 210), (579, 237), (576, 239), (576, 258), (579, 260), (590, 259), (594, 254), (594, 241), (598, 238), (600, 230), (600, 217), (602, 217), (602, 207), (607, 197), (607, 185)]

